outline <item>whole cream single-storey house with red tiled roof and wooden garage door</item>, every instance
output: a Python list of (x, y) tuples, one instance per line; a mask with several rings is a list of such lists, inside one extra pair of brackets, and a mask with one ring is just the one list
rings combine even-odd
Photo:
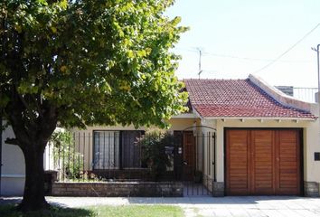
[[(202, 184), (215, 196), (319, 196), (317, 104), (289, 97), (253, 75), (246, 80), (184, 83), (190, 112), (169, 121), (174, 142), (165, 146), (172, 162), (165, 180), (193, 182), (196, 192)], [(147, 179), (148, 167), (142, 163), (139, 146), (147, 130), (132, 126), (73, 129), (73, 150), (81, 157), (63, 157), (69, 162), (64, 163), (67, 172), (61, 173), (61, 179), (75, 162), (85, 171), (80, 173), (83, 178), (86, 174), (107, 181)], [(51, 158), (50, 153), (47, 157)], [(66, 171), (61, 164), (58, 167)]]

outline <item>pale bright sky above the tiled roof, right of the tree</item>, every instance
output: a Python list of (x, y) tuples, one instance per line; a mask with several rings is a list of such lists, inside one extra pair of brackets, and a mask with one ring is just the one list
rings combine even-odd
[(198, 78), (201, 50), (202, 79), (254, 74), (272, 85), (317, 87), (311, 47), (320, 43), (320, 0), (175, 0), (166, 15), (190, 28), (173, 50), (182, 56), (179, 79)]

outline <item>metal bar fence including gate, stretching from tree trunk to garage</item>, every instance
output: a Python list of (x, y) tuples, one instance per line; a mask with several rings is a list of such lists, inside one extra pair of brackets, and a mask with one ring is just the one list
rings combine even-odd
[(59, 182), (179, 181), (185, 195), (212, 192), (211, 133), (97, 130), (57, 138), (45, 162)]

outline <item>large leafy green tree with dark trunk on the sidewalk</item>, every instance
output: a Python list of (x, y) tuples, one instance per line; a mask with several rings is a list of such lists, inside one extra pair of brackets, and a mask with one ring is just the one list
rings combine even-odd
[(24, 153), (20, 210), (48, 207), (43, 152), (57, 125), (165, 127), (184, 110), (173, 2), (1, 1), (0, 109)]

